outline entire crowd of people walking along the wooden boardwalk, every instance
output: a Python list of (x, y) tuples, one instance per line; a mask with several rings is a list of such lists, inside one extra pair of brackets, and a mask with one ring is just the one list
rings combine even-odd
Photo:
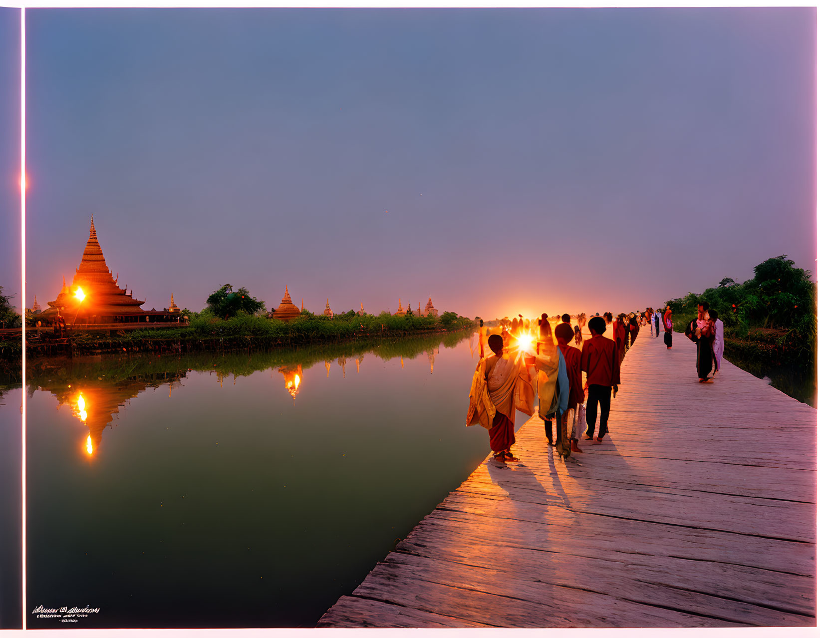
[[(621, 363), (646, 326), (654, 338), (663, 330), (666, 347), (672, 349), (669, 306), (617, 316), (596, 312), (589, 321), (580, 314), (575, 326), (569, 314), (543, 314), (532, 320), (518, 315), (512, 321), (505, 317), (493, 327), (482, 321), (477, 333), (481, 358), (472, 379), (467, 426), (481, 423), (489, 431), (496, 461), (517, 461), (512, 453), (515, 412), (532, 416), (537, 396), (547, 442), (560, 456), (566, 459), (573, 452), (582, 453), (581, 435), (600, 443), (608, 434), (611, 401), (621, 384)], [(584, 327), (588, 327), (588, 337)], [(712, 366), (715, 374), (720, 370), (723, 325), (717, 314), (709, 312), (708, 303), (699, 307), (686, 336), (698, 346), (699, 381), (711, 383)]]

